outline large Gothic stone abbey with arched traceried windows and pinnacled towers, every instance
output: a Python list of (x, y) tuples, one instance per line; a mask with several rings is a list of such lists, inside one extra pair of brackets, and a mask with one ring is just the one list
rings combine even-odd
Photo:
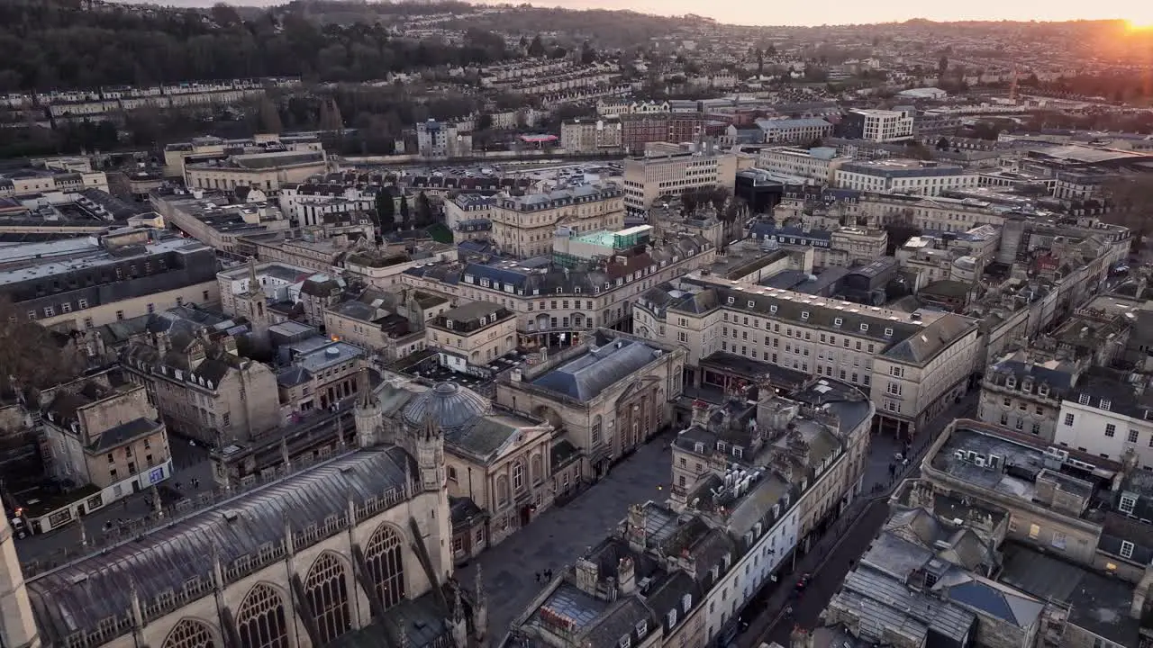
[(457, 647), (485, 593), (453, 579), (444, 431), (452, 390), (383, 414), (360, 376), (357, 447), (24, 574), (3, 522), (2, 646)]

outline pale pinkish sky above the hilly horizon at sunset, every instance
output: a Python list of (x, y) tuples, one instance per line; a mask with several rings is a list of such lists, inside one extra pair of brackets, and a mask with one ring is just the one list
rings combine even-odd
[[(508, 0), (480, 0), (503, 3)], [(513, 0), (515, 1), (515, 0)], [(541, 7), (635, 9), (647, 14), (696, 14), (719, 22), (756, 25), (819, 25), (934, 21), (1068, 21), (1123, 18), (1153, 25), (1153, 0), (826, 0), (819, 5), (769, 0), (544, 0)]]

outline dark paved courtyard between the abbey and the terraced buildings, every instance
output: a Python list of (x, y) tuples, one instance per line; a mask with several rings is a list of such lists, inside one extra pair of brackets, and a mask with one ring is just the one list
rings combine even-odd
[(631, 504), (669, 497), (672, 475), (666, 434), (612, 468), (609, 476), (565, 506), (555, 506), (511, 537), (485, 551), (457, 572), (472, 585), (481, 565), (489, 595), (489, 636), (495, 645), (504, 639), (512, 620), (525, 611), (544, 583), (535, 574), (559, 573), (565, 565), (612, 534), (628, 514)]

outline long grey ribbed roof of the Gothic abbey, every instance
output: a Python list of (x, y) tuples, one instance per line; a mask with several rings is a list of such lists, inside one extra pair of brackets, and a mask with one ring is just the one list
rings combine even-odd
[(153, 601), (181, 592), (191, 579), (211, 580), (208, 558), (213, 553), (228, 565), (266, 543), (280, 543), (286, 520), (303, 529), (345, 514), (349, 497), (363, 505), (404, 488), (406, 462), (416, 473), (413, 459), (398, 446), (353, 452), (29, 578), (36, 625), (47, 643), (62, 645), (76, 631), (126, 615), (131, 605), (128, 583), (135, 583), (142, 601)]

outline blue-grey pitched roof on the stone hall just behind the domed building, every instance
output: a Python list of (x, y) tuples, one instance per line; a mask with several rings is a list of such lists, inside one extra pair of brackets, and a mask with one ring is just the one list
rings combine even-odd
[(617, 339), (533, 380), (533, 384), (588, 402), (618, 380), (635, 374), (661, 355), (646, 344)]

